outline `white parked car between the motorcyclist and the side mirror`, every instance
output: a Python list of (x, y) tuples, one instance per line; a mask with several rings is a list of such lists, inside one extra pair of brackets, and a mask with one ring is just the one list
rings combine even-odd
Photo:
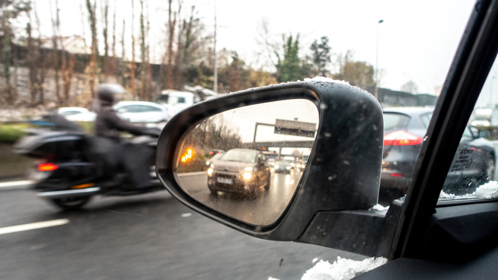
[(121, 101), (113, 108), (122, 119), (130, 123), (160, 123), (169, 120), (166, 107), (153, 102)]

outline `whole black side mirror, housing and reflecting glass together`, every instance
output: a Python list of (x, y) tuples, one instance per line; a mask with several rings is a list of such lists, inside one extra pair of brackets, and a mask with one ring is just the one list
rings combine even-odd
[[(223, 131), (224, 137), (217, 136)], [(334, 247), (322, 242), (332, 236), (315, 234), (320, 227), (314, 222), (377, 204), (383, 132), (379, 103), (360, 88), (314, 80), (254, 88), (206, 100), (175, 115), (157, 143), (156, 173), (183, 204), (238, 231)], [(256, 145), (279, 151), (282, 157), (293, 149), (310, 156), (302, 171), (279, 170), (276, 161), (268, 173), (250, 174), (243, 158), (256, 152)], [(187, 149), (208, 146), (226, 150), (227, 160), (197, 167), (185, 158)], [(286, 185), (275, 185), (277, 181)], [(260, 194), (241, 199), (230, 195), (236, 191)], [(365, 250), (355, 252), (372, 254)]]

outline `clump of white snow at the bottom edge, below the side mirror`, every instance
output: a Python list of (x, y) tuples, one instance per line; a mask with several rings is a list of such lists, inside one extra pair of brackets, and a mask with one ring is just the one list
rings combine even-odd
[[(354, 261), (337, 257), (334, 263), (320, 260), (314, 267), (306, 271), (301, 280), (350, 280), (360, 274), (373, 270), (387, 263), (386, 258), (368, 258)], [(268, 277), (268, 280), (277, 280)]]

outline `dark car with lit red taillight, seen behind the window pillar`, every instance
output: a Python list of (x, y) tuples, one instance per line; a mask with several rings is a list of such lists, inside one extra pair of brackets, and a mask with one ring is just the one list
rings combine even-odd
[[(393, 196), (406, 193), (434, 108), (397, 107), (382, 111), (384, 150), (379, 199), (390, 201), (396, 198)], [(479, 185), (493, 180), (495, 160), (493, 144), (466, 127), (443, 191), (451, 194), (472, 193)], [(486, 175), (483, 177), (482, 174)], [(468, 183), (463, 184), (462, 180)]]

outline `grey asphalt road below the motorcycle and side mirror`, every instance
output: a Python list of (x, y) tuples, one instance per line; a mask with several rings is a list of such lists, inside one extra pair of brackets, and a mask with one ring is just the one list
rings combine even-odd
[[(364, 258), (249, 237), (193, 212), (166, 191), (97, 197), (81, 211), (65, 212), (18, 187), (0, 188), (2, 280), (296, 280), (315, 258)], [(12, 229), (6, 227), (54, 220), (62, 223), (5, 233)]]

